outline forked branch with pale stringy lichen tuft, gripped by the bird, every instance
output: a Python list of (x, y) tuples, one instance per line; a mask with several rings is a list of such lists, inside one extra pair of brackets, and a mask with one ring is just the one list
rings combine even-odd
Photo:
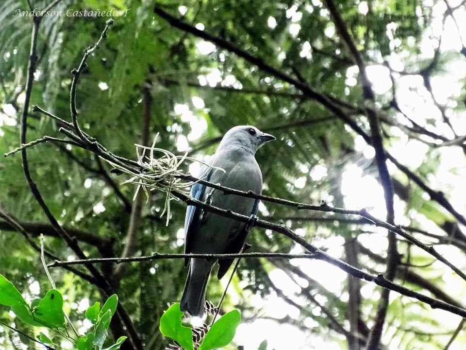
[[(107, 23), (107, 26), (108, 25), (109, 23)], [(99, 40), (101, 40), (102, 37), (104, 37), (104, 35), (101, 36)], [(98, 43), (99, 42), (100, 41), (98, 41)], [(90, 54), (89, 51), (86, 51), (85, 58), (87, 58), (89, 54)], [(85, 58), (83, 58), (83, 61), (80, 64), (80, 68), (84, 67), (83, 62), (85, 63)], [(203, 210), (211, 211), (218, 215), (222, 215), (224, 217), (238, 220), (241, 222), (247, 223), (250, 221), (249, 217), (246, 217), (244, 215), (234, 213), (231, 210), (223, 210), (220, 208), (216, 208), (206, 203), (195, 200), (194, 198), (191, 198), (187, 194), (186, 189), (197, 182), (202, 182), (206, 186), (215, 188), (224, 193), (237, 194), (237, 195), (242, 195), (245, 197), (262, 199), (262, 200), (269, 201), (269, 202), (274, 202), (274, 203), (279, 203), (279, 204), (295, 207), (299, 210), (300, 209), (318, 210), (318, 211), (324, 211), (324, 212), (352, 214), (352, 215), (358, 215), (358, 216), (364, 217), (370, 220), (371, 222), (373, 222), (375, 225), (380, 226), (380, 227), (385, 227), (390, 232), (397, 233), (401, 235), (402, 237), (406, 238), (408, 241), (412, 242), (413, 244), (427, 251), (429, 254), (433, 255), (439, 261), (442, 261), (445, 264), (447, 264), (458, 275), (460, 275), (463, 279), (466, 280), (466, 275), (461, 270), (459, 270), (457, 267), (455, 267), (453, 264), (451, 264), (447, 259), (445, 259), (439, 253), (437, 253), (435, 249), (433, 249), (432, 246), (424, 245), (422, 242), (416, 240), (413, 236), (406, 233), (400, 227), (396, 227), (389, 222), (387, 223), (387, 222), (383, 222), (382, 220), (378, 220), (377, 218), (367, 213), (366, 210), (346, 210), (346, 209), (340, 209), (340, 208), (332, 208), (332, 207), (327, 206), (326, 204), (322, 204), (320, 206), (313, 206), (313, 205), (309, 205), (305, 203), (296, 203), (296, 202), (284, 200), (281, 198), (273, 198), (273, 197), (268, 197), (264, 195), (259, 195), (253, 192), (241, 192), (241, 191), (237, 191), (234, 189), (225, 188), (225, 187), (222, 187), (221, 185), (212, 184), (212, 183), (205, 181), (202, 178), (202, 176), (201, 178), (194, 178), (192, 176), (184, 174), (182, 170), (182, 166), (183, 166), (183, 163), (187, 160), (189, 161), (198, 161), (198, 160), (188, 157), (187, 154), (183, 156), (177, 156), (165, 149), (157, 148), (155, 147), (156, 139), (154, 139), (154, 142), (152, 143), (151, 147), (147, 147), (147, 146), (139, 145), (139, 144), (135, 145), (137, 160), (120, 157), (118, 155), (111, 153), (102, 144), (100, 144), (98, 140), (86, 134), (79, 128), (78, 113), (76, 110), (76, 84), (78, 81), (79, 73), (82, 71), (82, 69), (78, 69), (77, 71), (74, 72), (76, 83), (71, 89), (70, 105), (71, 105), (71, 115), (72, 115), (73, 123), (68, 123), (67, 121), (63, 119), (54, 116), (50, 112), (40, 109), (39, 107), (34, 107), (33, 109), (35, 111), (39, 111), (49, 116), (50, 118), (53, 118), (56, 121), (58, 121), (61, 125), (59, 131), (69, 138), (68, 143), (72, 144), (73, 146), (81, 147), (83, 149), (86, 149), (90, 152), (95, 153), (102, 160), (105, 160), (106, 162), (111, 164), (115, 169), (117, 169), (117, 171), (124, 173), (126, 175), (129, 175), (129, 179), (125, 181), (124, 183), (134, 184), (135, 186), (137, 186), (138, 189), (142, 189), (147, 194), (150, 191), (165, 192), (166, 200), (165, 200), (165, 207), (163, 210), (163, 214), (166, 214), (167, 216), (167, 223), (170, 217), (170, 201), (171, 200), (183, 200), (188, 205), (198, 206), (202, 208)], [(307, 95), (313, 95), (316, 99), (319, 99), (321, 102), (325, 102), (328, 105), (328, 107), (330, 107), (330, 109), (333, 110), (333, 112), (335, 112), (339, 116), (342, 115), (341, 109), (338, 106), (334, 105), (333, 102), (331, 101), (329, 102), (329, 100), (326, 97), (322, 97), (322, 95), (316, 94), (315, 91), (312, 91), (309, 89), (305, 90), (305, 92)], [(348, 120), (348, 123), (350, 122), (351, 121)], [(36, 142), (33, 145), (36, 145), (38, 143), (40, 142)], [(22, 152), (24, 152), (25, 149), (26, 148), (23, 148)], [(215, 166), (214, 164), (215, 164), (215, 160), (212, 161), (210, 164), (205, 164), (205, 165), (212, 167), (212, 166)], [(354, 266), (351, 266), (350, 264), (346, 262), (333, 258), (329, 256), (328, 254), (326, 254), (325, 252), (318, 249), (316, 246), (309, 244), (302, 237), (300, 237), (299, 235), (296, 235), (291, 229), (289, 229), (283, 224), (277, 225), (277, 224), (269, 223), (263, 220), (258, 220), (255, 225), (258, 227), (274, 230), (278, 233), (281, 233), (287, 236), (288, 238), (292, 239), (299, 245), (306, 248), (306, 250), (310, 254), (315, 256), (316, 258), (323, 260), (325, 262), (331, 263), (356, 278), (369, 280), (378, 285), (383, 286), (384, 288), (398, 291), (399, 293), (402, 293), (407, 296), (416, 297), (419, 300), (426, 302), (433, 307), (439, 307), (444, 310), (454, 312), (458, 315), (466, 315), (466, 310), (463, 310), (461, 308), (452, 309), (451, 305), (446, 305), (445, 303), (441, 304), (438, 302), (438, 300), (428, 298), (426, 296), (413, 292), (407, 288), (396, 285), (395, 283), (390, 282), (389, 280), (386, 280), (385, 278), (383, 278), (383, 276), (372, 276), (370, 274), (367, 274), (364, 271), (361, 271), (360, 269), (355, 268)], [(81, 260), (85, 260), (85, 258)], [(89, 267), (92, 266), (89, 263), (86, 263), (85, 265)]]

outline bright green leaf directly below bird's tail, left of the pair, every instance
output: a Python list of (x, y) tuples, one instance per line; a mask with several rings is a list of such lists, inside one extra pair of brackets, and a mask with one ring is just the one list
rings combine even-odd
[(191, 328), (181, 323), (183, 312), (180, 303), (174, 303), (160, 318), (160, 333), (167, 338), (175, 340), (186, 350), (193, 350), (193, 333)]

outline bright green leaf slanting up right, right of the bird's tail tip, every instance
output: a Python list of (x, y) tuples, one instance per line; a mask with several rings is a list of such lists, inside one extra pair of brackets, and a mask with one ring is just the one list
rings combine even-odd
[(220, 317), (205, 335), (199, 350), (212, 350), (230, 344), (240, 321), (241, 314), (238, 310), (230, 311)]

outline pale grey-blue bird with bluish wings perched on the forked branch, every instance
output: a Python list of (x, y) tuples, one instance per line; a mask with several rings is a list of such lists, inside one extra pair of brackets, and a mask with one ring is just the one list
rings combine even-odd
[[(220, 141), (211, 165), (203, 166), (199, 177), (222, 186), (240, 191), (262, 192), (262, 172), (254, 157), (264, 143), (275, 137), (259, 129), (241, 125), (231, 128)], [(218, 169), (221, 168), (224, 171)], [(214, 207), (232, 210), (255, 218), (259, 200), (224, 194), (220, 190), (197, 183), (191, 189), (191, 196)], [(243, 247), (250, 225), (229, 219), (195, 206), (188, 206), (184, 220), (184, 253), (234, 254)], [(218, 279), (222, 278), (233, 259), (218, 261)], [(180, 308), (192, 316), (204, 312), (205, 288), (214, 259), (191, 258), (188, 277), (184, 286)], [(185, 259), (184, 265), (188, 264)]]

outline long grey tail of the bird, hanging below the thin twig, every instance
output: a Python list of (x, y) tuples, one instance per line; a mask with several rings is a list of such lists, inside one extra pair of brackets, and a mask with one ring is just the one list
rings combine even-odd
[(213, 262), (205, 259), (191, 259), (188, 277), (181, 297), (180, 309), (191, 316), (204, 314), (205, 288)]

